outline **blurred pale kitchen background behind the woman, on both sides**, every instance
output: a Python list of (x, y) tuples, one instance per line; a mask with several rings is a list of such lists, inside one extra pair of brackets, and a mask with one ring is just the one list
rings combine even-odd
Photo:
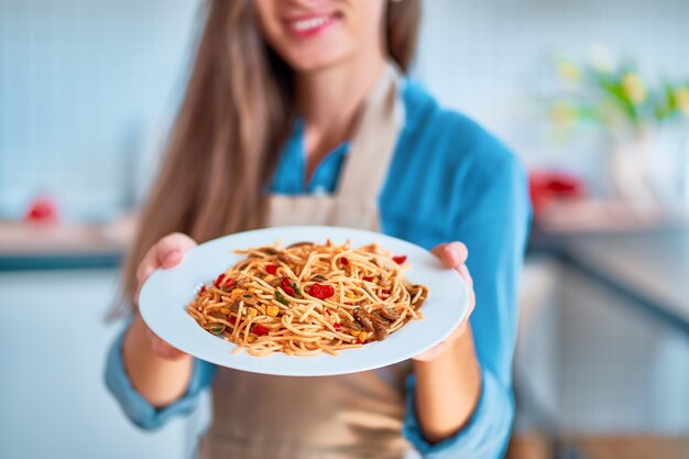
[[(0, 0), (0, 457), (187, 458), (106, 392), (198, 0)], [(413, 75), (531, 173), (508, 457), (689, 458), (689, 2), (425, 0)]]

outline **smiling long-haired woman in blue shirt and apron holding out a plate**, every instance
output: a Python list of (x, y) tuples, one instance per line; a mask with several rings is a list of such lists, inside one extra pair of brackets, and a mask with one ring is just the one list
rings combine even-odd
[(190, 411), (212, 382), (204, 458), (502, 456), (514, 411), (524, 176), (490, 134), (402, 75), (418, 10), (418, 0), (210, 1), (125, 293), (135, 303), (152, 271), (198, 241), (338, 225), (433, 248), (473, 285), (471, 320), (411, 362), (298, 379), (215, 369), (134, 314), (107, 382), (138, 425)]

